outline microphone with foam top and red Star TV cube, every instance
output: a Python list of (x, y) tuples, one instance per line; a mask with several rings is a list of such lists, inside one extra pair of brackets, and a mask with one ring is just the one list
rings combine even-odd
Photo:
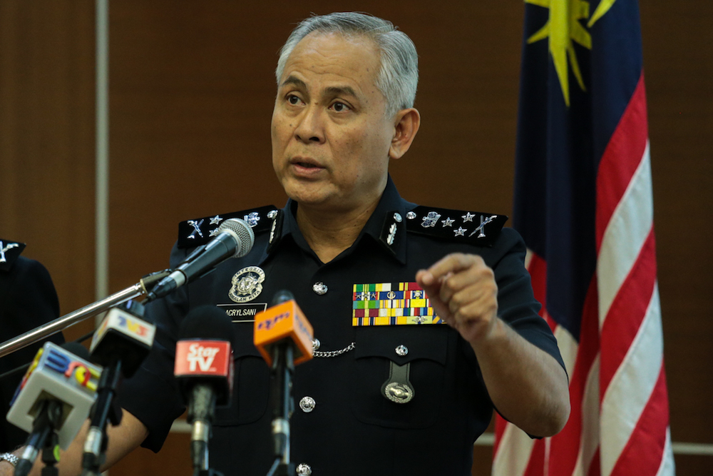
[(208, 440), (215, 406), (230, 405), (234, 347), (232, 323), (215, 305), (188, 313), (180, 325), (174, 375), (193, 425), (190, 457), (195, 474), (208, 470)]

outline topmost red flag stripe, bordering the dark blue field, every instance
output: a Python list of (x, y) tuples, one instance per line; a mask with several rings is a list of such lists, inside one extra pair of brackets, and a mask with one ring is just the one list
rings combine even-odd
[(646, 90), (642, 72), (597, 170), (597, 254), (612, 214), (641, 162), (647, 140)]

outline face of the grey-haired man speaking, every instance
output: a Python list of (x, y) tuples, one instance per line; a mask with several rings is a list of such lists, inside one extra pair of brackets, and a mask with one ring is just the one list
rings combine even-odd
[(394, 123), (370, 39), (309, 34), (287, 59), (272, 113), (272, 166), (287, 196), (325, 211), (376, 203)]

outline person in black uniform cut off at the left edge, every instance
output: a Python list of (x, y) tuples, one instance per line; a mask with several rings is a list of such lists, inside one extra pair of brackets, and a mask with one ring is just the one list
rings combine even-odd
[[(20, 255), (24, 248), (24, 243), (0, 240), (0, 343), (59, 317), (52, 278), (41, 263)], [(46, 340), (64, 343), (61, 333)], [(46, 340), (0, 358), (0, 374), (30, 363)], [(14, 450), (27, 439), (27, 432), (5, 420), (24, 374), (16, 372), (0, 380), (0, 453)]]

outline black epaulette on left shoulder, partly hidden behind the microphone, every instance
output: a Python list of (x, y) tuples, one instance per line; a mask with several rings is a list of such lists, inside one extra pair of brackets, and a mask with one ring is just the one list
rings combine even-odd
[(245, 220), (255, 234), (269, 231), (272, 226), (272, 218), (275, 218), (277, 211), (276, 206), (268, 205), (182, 221), (178, 223), (178, 248), (194, 248), (198, 245), (205, 245), (210, 241), (210, 238), (217, 235), (220, 223), (229, 218)]

